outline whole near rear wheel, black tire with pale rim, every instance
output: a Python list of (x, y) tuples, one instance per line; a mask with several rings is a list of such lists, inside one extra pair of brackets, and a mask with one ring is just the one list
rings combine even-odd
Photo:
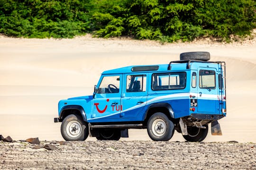
[(147, 121), (147, 134), (154, 141), (168, 141), (174, 135), (174, 123), (164, 113), (155, 113)]

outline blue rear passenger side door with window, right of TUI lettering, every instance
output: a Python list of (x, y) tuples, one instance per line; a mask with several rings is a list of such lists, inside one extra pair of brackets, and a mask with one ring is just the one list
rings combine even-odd
[(147, 75), (125, 74), (121, 95), (121, 117), (137, 118), (138, 114), (145, 112), (147, 97)]

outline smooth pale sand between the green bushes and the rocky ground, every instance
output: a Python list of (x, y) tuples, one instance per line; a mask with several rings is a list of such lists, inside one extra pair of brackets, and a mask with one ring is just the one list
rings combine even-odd
[[(0, 36), (0, 134), (15, 140), (63, 140), (57, 103), (91, 95), (101, 72), (129, 65), (166, 64), (186, 51), (209, 51), (226, 61), (227, 117), (223, 136), (205, 142), (256, 142), (256, 39), (230, 44), (210, 40), (161, 45), (154, 41), (95, 39), (22, 39)], [(146, 130), (130, 130), (122, 140), (149, 140)], [(88, 140), (95, 140), (88, 138)], [(184, 141), (175, 133), (171, 141)]]

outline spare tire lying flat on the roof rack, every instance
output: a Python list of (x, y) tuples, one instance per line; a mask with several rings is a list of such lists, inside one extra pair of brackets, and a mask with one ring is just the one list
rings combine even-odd
[(210, 60), (210, 52), (197, 51), (197, 52), (183, 52), (180, 54), (181, 60), (192, 59), (192, 60)]

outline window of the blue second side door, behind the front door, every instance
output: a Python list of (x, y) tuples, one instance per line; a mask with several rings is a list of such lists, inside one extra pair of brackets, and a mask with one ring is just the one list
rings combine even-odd
[(146, 75), (128, 75), (126, 92), (146, 92)]

